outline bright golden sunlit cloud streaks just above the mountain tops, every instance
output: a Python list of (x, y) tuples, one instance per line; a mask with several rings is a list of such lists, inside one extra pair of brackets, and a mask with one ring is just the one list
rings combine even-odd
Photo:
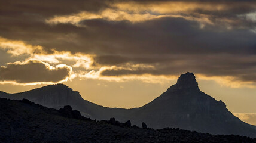
[[(8, 64), (19, 64), (25, 65), (28, 64), (29, 61), (36, 61), (38, 63), (43, 63), (48, 70), (56, 70), (58, 68), (68, 67), (69, 69), (69, 77), (65, 77), (65, 79), (58, 81), (57, 83), (66, 82), (68, 80), (74, 78), (80, 79), (100, 79), (100, 80), (108, 80), (115, 82), (125, 82), (127, 80), (141, 80), (145, 83), (164, 83), (167, 80), (173, 80), (178, 77), (178, 75), (152, 75), (147, 73), (142, 74), (134, 74), (133, 71), (138, 70), (154, 70), (154, 67), (151, 64), (134, 64), (134, 63), (125, 63), (119, 66), (104, 66), (104, 65), (93, 65), (95, 55), (83, 54), (83, 53), (75, 53), (72, 54), (69, 51), (56, 51), (47, 54), (44, 51), (42, 46), (33, 46), (29, 45), (23, 41), (13, 41), (5, 38), (0, 38), (0, 47), (3, 49), (7, 49), (7, 52), (12, 54), (13, 56), (19, 56), (22, 54), (30, 55), (25, 61), (16, 61), (14, 63)], [(71, 66), (67, 66), (65, 62), (71, 64)], [(50, 64), (55, 64), (56, 66), (50, 66)], [(7, 65), (8, 65), (7, 64)], [(182, 64), (182, 63), (181, 63)], [(6, 68), (6, 66), (2, 66), (2, 68)], [(74, 68), (78, 68), (74, 70)], [(86, 71), (81, 70), (85, 69)], [(124, 74), (121, 76), (115, 76), (114, 74), (105, 76), (105, 71), (108, 70), (124, 70), (129, 71), (131, 74)], [(242, 82), (237, 80), (232, 76), (205, 76), (204, 74), (197, 74), (197, 77), (202, 80), (214, 80), (218, 84), (222, 86), (228, 86), (231, 88), (240, 88), (240, 87), (248, 87), (255, 88), (253, 82)], [(54, 83), (54, 82), (33, 82), (33, 83), (17, 83), (15, 81), (1, 81), (1, 84), (12, 83), (12, 84), (22, 84), (22, 85), (36, 85), (36, 84), (45, 84), (45, 83)]]

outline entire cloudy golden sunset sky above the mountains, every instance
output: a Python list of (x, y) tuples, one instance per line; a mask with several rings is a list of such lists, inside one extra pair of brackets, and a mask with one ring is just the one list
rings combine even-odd
[(0, 0), (0, 91), (63, 83), (106, 107), (140, 107), (193, 72), (256, 125), (252, 0)]

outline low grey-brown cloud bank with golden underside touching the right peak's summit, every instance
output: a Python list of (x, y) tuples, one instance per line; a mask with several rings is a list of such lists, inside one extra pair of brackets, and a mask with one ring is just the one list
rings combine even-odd
[[(168, 58), (169, 57), (169, 58)], [(114, 58), (114, 57), (112, 57)], [(120, 57), (117, 57), (117, 61)], [(133, 63), (114, 63), (116, 66), (100, 70), (100, 76), (179, 76), (181, 73), (193, 71), (199, 79), (214, 80), (223, 86), (231, 88), (248, 87), (255, 88), (255, 56), (248, 55), (159, 55), (151, 62), (151, 59), (131, 60)], [(201, 61), (199, 61), (202, 59)], [(113, 59), (112, 59), (113, 60)], [(111, 61), (112, 61), (111, 60)], [(148, 60), (148, 61), (147, 61)], [(131, 66), (133, 65), (133, 66)], [(139, 65), (139, 66), (134, 66)]]

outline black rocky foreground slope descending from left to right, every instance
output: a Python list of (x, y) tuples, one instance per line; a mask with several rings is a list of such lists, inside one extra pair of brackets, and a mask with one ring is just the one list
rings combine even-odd
[(256, 142), (246, 136), (142, 129), (115, 119), (96, 122), (70, 106), (56, 110), (29, 100), (0, 98), (0, 120), (1, 142)]

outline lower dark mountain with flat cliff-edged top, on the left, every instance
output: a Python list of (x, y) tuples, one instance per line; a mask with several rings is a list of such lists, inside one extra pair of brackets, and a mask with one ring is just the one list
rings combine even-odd
[(63, 84), (48, 85), (17, 94), (0, 92), (0, 97), (13, 100), (22, 100), (23, 98), (26, 98), (36, 104), (56, 109), (62, 108), (65, 105), (71, 105), (75, 110), (81, 111), (83, 116), (97, 120), (106, 120), (115, 116), (123, 117), (128, 111), (121, 108), (102, 107), (84, 100), (79, 92), (73, 91)]

